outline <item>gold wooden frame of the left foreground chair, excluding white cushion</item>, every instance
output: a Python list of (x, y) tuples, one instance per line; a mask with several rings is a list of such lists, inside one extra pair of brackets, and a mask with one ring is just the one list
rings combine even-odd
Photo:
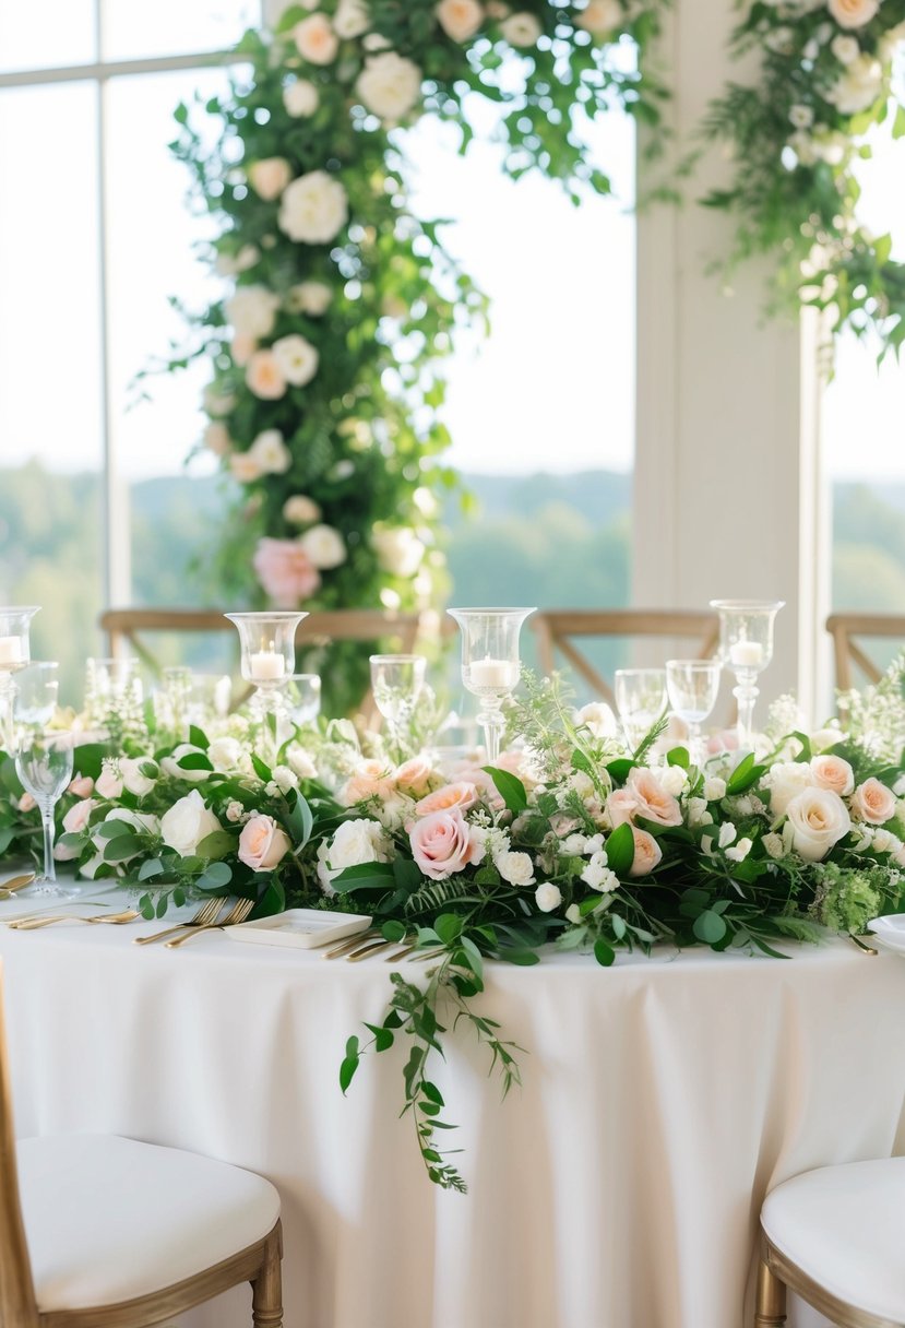
[(0, 965), (0, 1323), (3, 1328), (150, 1328), (151, 1324), (184, 1313), (243, 1282), (249, 1282), (252, 1287), (255, 1328), (281, 1328), (281, 1258), (283, 1228), (277, 1219), (261, 1240), (212, 1268), (204, 1268), (184, 1282), (162, 1287), (161, 1291), (88, 1309), (53, 1309), (44, 1313), (38, 1309), (19, 1190)]

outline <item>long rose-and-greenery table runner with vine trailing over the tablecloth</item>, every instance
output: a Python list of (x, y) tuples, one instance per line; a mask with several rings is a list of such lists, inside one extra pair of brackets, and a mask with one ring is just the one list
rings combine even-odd
[[(504, 1090), (518, 1082), (515, 1048), (468, 1004), (486, 957), (532, 964), (547, 942), (605, 967), (618, 948), (657, 944), (782, 957), (783, 940), (859, 932), (902, 907), (905, 657), (848, 703), (855, 734), (795, 730), (756, 758), (715, 742), (701, 768), (658, 730), (625, 752), (606, 706), (575, 713), (532, 680), (496, 768), (405, 757), (376, 736), (362, 746), (348, 721), (293, 730), (275, 764), (259, 754), (269, 732), (243, 716), (188, 741), (84, 744), (56, 854), (143, 887), (146, 916), (188, 891), (231, 894), (253, 899), (255, 916), (366, 911), (387, 942), (434, 950), (426, 985), (393, 975), (386, 1017), (364, 1045), (349, 1038), (340, 1082), (407, 1036), (405, 1109), (430, 1178), (462, 1190), (437, 1142), (429, 1066), (451, 1003)], [(0, 853), (36, 851), (37, 815), (8, 758), (0, 780)]]

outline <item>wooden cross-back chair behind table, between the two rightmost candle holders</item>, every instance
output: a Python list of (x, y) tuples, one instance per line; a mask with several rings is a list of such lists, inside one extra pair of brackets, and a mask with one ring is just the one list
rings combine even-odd
[(591, 636), (661, 636), (685, 637), (694, 641), (697, 659), (707, 659), (715, 653), (719, 641), (719, 619), (717, 614), (689, 610), (541, 610), (529, 619), (537, 633), (537, 660), (544, 673), (556, 668), (559, 651), (585, 683), (589, 683), (597, 696), (616, 704), (613, 691), (604, 676), (593, 667), (571, 637)]

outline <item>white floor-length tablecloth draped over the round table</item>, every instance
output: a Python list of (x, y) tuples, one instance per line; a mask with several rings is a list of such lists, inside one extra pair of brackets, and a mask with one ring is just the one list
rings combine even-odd
[[(502, 1104), (484, 1050), (449, 1036), (434, 1077), (460, 1197), (398, 1118), (407, 1050), (340, 1094), (385, 963), (222, 934), (138, 948), (145, 926), (0, 928), (19, 1133), (114, 1131), (269, 1177), (285, 1328), (740, 1328), (764, 1191), (904, 1150), (893, 955), (488, 965), (479, 1008), (524, 1048), (524, 1088)], [(184, 1324), (247, 1328), (248, 1305), (240, 1288)]]

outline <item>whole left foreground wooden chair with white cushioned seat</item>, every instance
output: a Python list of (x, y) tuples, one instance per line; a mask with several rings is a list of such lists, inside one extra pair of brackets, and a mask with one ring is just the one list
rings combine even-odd
[(4, 1328), (145, 1328), (243, 1282), (256, 1328), (280, 1328), (281, 1254), (280, 1197), (251, 1171), (117, 1135), (16, 1143), (0, 987)]

